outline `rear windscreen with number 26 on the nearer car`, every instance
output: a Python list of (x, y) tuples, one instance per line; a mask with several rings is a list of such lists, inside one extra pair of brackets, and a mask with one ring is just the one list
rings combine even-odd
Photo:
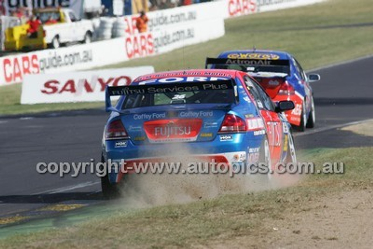
[(147, 93), (125, 96), (122, 109), (179, 104), (231, 104), (234, 102), (235, 96), (232, 89), (182, 91), (174, 93)]

